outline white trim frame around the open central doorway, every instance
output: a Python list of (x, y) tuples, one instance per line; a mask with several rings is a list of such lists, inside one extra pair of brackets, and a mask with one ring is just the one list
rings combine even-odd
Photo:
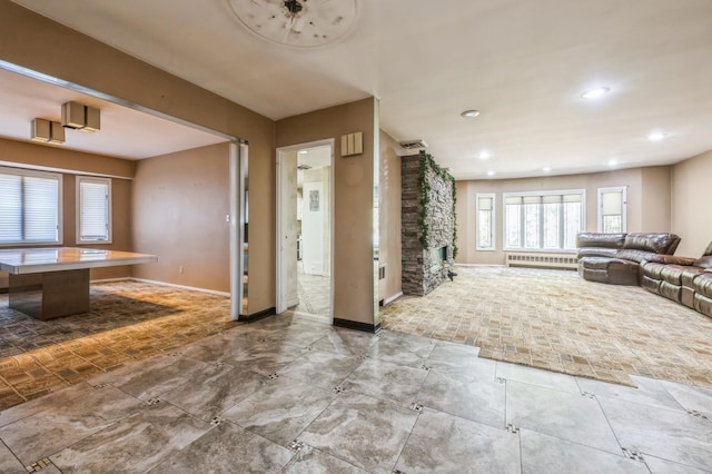
[[(329, 240), (330, 240), (330, 258), (329, 258), (329, 323), (334, 322), (334, 217), (335, 217), (335, 195), (334, 195), (334, 154), (335, 154), (335, 139), (334, 138), (328, 138), (328, 139), (324, 139), (324, 140), (316, 140), (316, 141), (309, 141), (306, 144), (299, 144), (299, 145), (291, 145), (288, 147), (279, 147), (276, 150), (276, 241), (275, 241), (275, 255), (276, 255), (276, 268), (275, 268), (275, 289), (276, 289), (276, 297), (275, 297), (275, 308), (276, 308), (276, 313), (277, 314), (281, 314), (287, 310), (287, 297), (285, 294), (283, 294), (284, 288), (286, 287), (286, 279), (287, 279), (287, 273), (286, 273), (286, 257), (285, 257), (285, 251), (286, 249), (283, 247), (281, 241), (283, 241), (283, 235), (285, 233), (285, 223), (283, 223), (283, 218), (285, 217), (285, 213), (283, 213), (281, 210), (281, 198), (285, 194), (285, 189), (283, 189), (283, 182), (284, 182), (284, 176), (285, 172), (287, 171), (286, 167), (283, 165), (283, 155), (284, 152), (287, 151), (298, 151), (300, 149), (305, 149), (305, 148), (315, 148), (315, 147), (323, 147), (323, 146), (328, 146), (332, 149), (332, 160), (330, 160), (330, 170), (329, 170), (329, 200), (330, 200), (330, 208), (329, 208)], [(296, 206), (296, 203), (295, 203)]]

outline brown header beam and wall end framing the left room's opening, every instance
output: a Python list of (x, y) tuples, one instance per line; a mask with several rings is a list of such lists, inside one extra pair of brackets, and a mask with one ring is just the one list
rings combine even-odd
[(9, 1), (0, 2), (0, 59), (248, 140), (249, 310), (274, 307), (274, 121)]

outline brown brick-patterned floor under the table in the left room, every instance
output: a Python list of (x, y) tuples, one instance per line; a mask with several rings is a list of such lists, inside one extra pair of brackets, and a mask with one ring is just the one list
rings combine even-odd
[(138, 282), (91, 285), (91, 312), (48, 322), (0, 295), (0, 409), (219, 333), (229, 298)]

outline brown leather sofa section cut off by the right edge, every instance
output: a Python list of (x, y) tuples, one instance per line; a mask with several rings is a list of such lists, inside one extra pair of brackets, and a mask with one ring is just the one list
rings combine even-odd
[(700, 258), (656, 255), (641, 265), (641, 286), (712, 316), (712, 243)]

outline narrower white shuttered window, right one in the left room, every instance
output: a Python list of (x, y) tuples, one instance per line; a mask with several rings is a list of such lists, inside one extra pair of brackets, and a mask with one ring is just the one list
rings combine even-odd
[(77, 178), (77, 244), (111, 243), (111, 180)]

